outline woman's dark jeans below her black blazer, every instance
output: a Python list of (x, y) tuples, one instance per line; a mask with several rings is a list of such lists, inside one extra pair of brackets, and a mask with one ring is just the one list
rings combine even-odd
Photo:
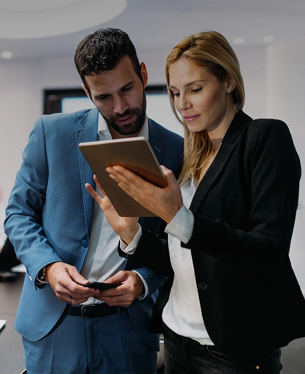
[(164, 326), (165, 374), (279, 374), (280, 361), (281, 349), (260, 357), (234, 357)]

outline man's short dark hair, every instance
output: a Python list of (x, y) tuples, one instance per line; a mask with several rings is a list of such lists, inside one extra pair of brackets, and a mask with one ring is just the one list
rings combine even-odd
[[(78, 45), (74, 62), (86, 86), (85, 77), (113, 70), (125, 56), (131, 59), (141, 80), (141, 67), (135, 46), (129, 36), (120, 29), (99, 29), (86, 36)], [(88, 89), (88, 87), (86, 86)]]

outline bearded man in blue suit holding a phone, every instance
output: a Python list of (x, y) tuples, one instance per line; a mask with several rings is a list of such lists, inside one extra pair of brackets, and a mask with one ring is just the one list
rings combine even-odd
[[(152, 374), (158, 335), (148, 323), (164, 278), (117, 254), (118, 236), (85, 190), (93, 173), (78, 144), (146, 136), (178, 173), (183, 140), (146, 118), (147, 71), (126, 33), (87, 36), (75, 63), (97, 109), (37, 120), (7, 208), (5, 230), (28, 274), (15, 327), (28, 374)], [(140, 219), (160, 229), (159, 218)], [(122, 285), (99, 292), (88, 280)]]

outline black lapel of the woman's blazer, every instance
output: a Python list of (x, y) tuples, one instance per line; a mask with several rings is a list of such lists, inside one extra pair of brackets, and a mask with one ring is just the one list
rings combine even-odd
[(190, 210), (192, 212), (196, 212), (198, 210), (201, 202), (203, 201), (209, 190), (212, 188), (214, 181), (222, 172), (229, 157), (237, 147), (237, 144), (234, 143), (234, 140), (244, 128), (244, 126), (251, 120), (252, 118), (244, 114), (244, 112), (242, 111), (238, 112), (233, 118), (216, 157), (214, 158), (209, 169), (205, 173), (203, 180), (200, 182), (196, 190), (196, 193), (190, 205)]

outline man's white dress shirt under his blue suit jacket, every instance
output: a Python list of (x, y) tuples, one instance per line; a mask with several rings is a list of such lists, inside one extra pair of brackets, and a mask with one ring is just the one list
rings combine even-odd
[[(99, 114), (98, 123), (98, 134), (99, 140), (110, 140), (112, 139), (108, 129), (108, 125), (101, 114)], [(145, 137), (148, 139), (148, 119), (145, 118), (142, 129), (139, 133), (139, 137)], [(101, 194), (98, 187), (96, 191)], [(103, 282), (110, 276), (115, 275), (118, 271), (123, 270), (125, 265), (125, 259), (120, 257), (117, 251), (119, 243), (119, 236), (113, 231), (105, 218), (100, 206), (95, 202), (93, 223), (89, 242), (88, 252), (81, 268), (81, 275), (90, 282)], [(136, 272), (139, 274), (138, 272)], [(141, 298), (147, 295), (147, 285), (142, 276), (141, 277), (145, 293)], [(139, 297), (140, 298), (140, 297)], [(83, 304), (94, 304), (101, 302), (93, 297), (90, 297)]]

